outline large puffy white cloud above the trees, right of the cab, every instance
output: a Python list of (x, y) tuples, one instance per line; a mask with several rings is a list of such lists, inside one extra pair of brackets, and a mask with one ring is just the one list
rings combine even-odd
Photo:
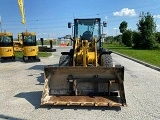
[(136, 16), (134, 9), (123, 8), (121, 11), (113, 12), (114, 16)]

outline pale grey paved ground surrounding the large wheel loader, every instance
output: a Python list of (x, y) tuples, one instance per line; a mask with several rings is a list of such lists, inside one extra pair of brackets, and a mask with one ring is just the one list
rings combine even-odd
[(112, 54), (114, 64), (125, 67), (127, 107), (40, 107), (43, 90), (43, 67), (58, 65), (61, 51), (41, 62), (21, 60), (0, 63), (0, 119), (30, 120), (159, 120), (160, 72)]

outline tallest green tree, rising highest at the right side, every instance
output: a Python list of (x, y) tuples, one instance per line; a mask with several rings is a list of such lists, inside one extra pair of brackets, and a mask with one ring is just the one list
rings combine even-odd
[(140, 15), (138, 31), (140, 32), (139, 48), (141, 49), (154, 49), (156, 45), (156, 24), (154, 22), (153, 16), (147, 12)]

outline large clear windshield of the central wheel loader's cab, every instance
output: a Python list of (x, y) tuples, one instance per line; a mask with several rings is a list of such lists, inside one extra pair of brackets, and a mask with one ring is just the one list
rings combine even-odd
[(75, 20), (75, 37), (82, 39), (99, 38), (100, 21), (99, 19), (77, 19)]

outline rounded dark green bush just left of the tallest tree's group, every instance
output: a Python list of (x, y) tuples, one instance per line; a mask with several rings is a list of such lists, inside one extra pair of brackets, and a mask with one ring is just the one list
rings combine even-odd
[(126, 30), (123, 34), (122, 34), (122, 43), (124, 45), (126, 45), (127, 47), (131, 47), (132, 46), (132, 37), (133, 37), (133, 33), (131, 30)]

